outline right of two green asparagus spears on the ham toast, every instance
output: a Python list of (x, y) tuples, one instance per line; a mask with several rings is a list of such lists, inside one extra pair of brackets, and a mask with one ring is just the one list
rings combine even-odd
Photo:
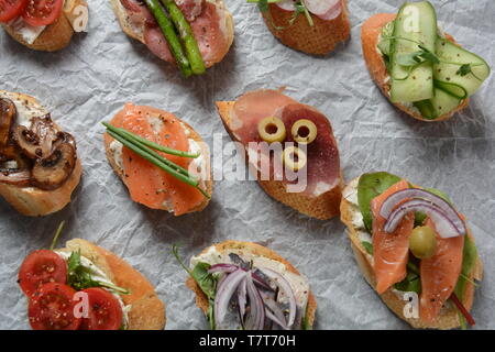
[(167, 9), (168, 14), (170, 15), (170, 20), (172, 22), (174, 22), (178, 35), (183, 41), (193, 73), (195, 75), (204, 74), (206, 70), (205, 63), (202, 61), (201, 53), (199, 52), (198, 42), (196, 42), (193, 30), (190, 29), (189, 22), (187, 22), (184, 13), (177, 7), (174, 0), (162, 0), (162, 3)]

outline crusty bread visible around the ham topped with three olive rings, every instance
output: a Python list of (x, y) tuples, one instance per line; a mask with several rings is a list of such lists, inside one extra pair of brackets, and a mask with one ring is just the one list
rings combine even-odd
[[(240, 142), (235, 136), (235, 133), (232, 133), (230, 127), (231, 111), (234, 103), (235, 101), (217, 101), (217, 109), (231, 139)], [(249, 163), (248, 154), (245, 160), (246, 163)], [(342, 197), (341, 189), (343, 186), (342, 175), (340, 179), (340, 185), (319, 195), (318, 197), (310, 197), (302, 193), (287, 193), (285, 184), (279, 180), (263, 180), (257, 177), (257, 183), (271, 197), (283, 202), (284, 205), (289, 206), (290, 208), (294, 208), (308, 217), (327, 220), (339, 215), (340, 198)]]

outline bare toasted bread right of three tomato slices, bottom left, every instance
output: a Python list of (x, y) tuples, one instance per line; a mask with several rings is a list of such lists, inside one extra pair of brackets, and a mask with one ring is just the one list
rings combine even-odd
[(66, 252), (80, 250), (117, 286), (129, 289), (121, 298), (131, 305), (129, 330), (163, 330), (165, 328), (165, 305), (158, 298), (152, 284), (135, 268), (118, 255), (81, 239), (74, 239), (62, 249)]

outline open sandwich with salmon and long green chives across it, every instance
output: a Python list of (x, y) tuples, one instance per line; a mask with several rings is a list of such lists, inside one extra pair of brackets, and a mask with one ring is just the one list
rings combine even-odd
[(132, 103), (103, 124), (108, 161), (132, 200), (175, 216), (208, 205), (213, 188), (209, 148), (190, 125)]

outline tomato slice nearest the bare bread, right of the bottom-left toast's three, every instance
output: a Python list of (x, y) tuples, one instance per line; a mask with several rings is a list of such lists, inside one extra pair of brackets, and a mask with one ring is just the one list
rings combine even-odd
[(82, 318), (81, 330), (118, 330), (122, 324), (122, 307), (108, 290), (91, 287), (81, 290), (88, 294), (88, 318)]

